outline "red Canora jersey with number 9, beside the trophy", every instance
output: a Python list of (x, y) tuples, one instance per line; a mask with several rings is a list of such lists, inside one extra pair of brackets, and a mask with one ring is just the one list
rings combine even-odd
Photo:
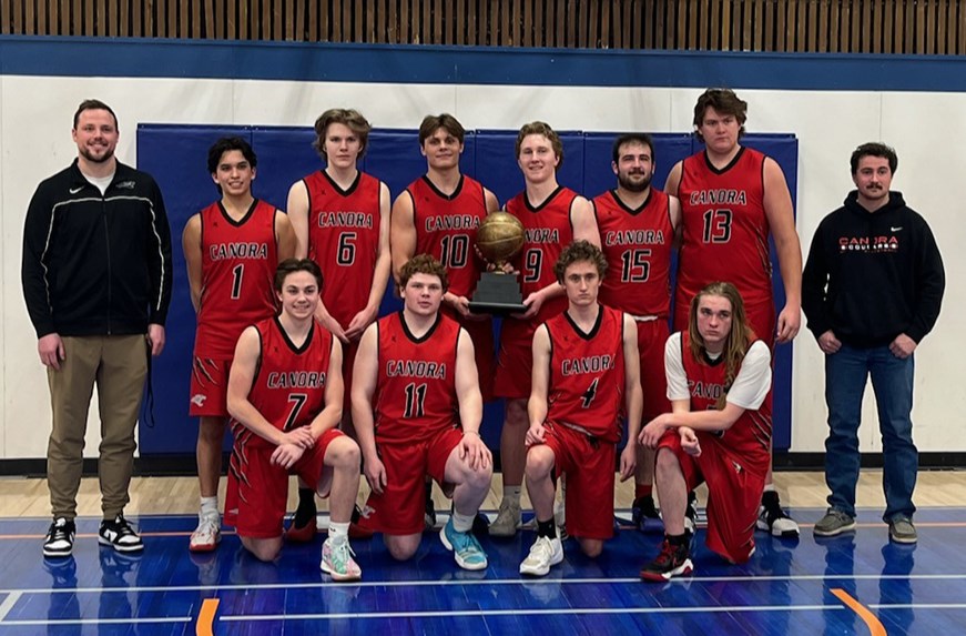
[[(523, 224), (523, 246), (513, 259), (513, 265), (520, 272), (520, 290), (523, 293), (523, 300), (531, 293), (557, 282), (553, 265), (560, 258), (563, 248), (573, 242), (570, 208), (576, 198), (576, 192), (561, 185), (536, 208), (527, 199), (526, 190), (507, 201), (507, 212)], [(557, 296), (543, 303), (540, 312), (530, 321), (531, 333), (532, 330), (565, 309), (567, 309), (567, 297), (565, 296)], [(519, 322), (506, 321), (504, 329)]]

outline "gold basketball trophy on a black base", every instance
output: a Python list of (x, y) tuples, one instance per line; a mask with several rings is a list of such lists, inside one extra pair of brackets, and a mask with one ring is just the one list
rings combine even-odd
[(479, 224), (476, 246), (495, 269), (480, 276), (469, 310), (501, 315), (526, 312), (517, 275), (504, 271), (507, 261), (523, 246), (523, 224), (507, 212), (490, 212)]

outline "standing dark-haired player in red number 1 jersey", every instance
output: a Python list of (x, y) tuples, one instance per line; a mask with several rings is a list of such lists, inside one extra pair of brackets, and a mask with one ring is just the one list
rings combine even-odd
[(197, 312), (189, 413), (200, 417), (197, 478), (201, 512), (189, 549), (213, 551), (221, 541), (218, 475), (227, 428), (228, 369), (242, 331), (275, 315), (272, 277), (291, 258), (288, 218), (252, 195), (258, 158), (245, 140), (222, 138), (207, 168), (222, 194), (187, 221), (182, 234), (191, 302)]

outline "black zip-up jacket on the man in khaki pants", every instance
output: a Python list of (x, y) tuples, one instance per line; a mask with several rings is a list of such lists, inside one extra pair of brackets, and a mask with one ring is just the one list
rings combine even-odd
[(21, 281), (38, 339), (132, 335), (163, 325), (171, 275), (171, 229), (150, 174), (118, 162), (102, 195), (74, 160), (37, 188)]

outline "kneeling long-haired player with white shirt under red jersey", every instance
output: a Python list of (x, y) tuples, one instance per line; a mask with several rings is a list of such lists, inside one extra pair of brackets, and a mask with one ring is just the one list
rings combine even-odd
[(657, 483), (665, 538), (641, 577), (668, 581), (692, 569), (684, 531), (687, 493), (708, 483), (708, 547), (731, 563), (754, 553), (754, 527), (771, 463), (772, 415), (764, 401), (771, 353), (748, 326), (731, 283), (711, 283), (691, 301), (687, 333), (664, 347), (671, 413), (641, 432), (658, 448)]

